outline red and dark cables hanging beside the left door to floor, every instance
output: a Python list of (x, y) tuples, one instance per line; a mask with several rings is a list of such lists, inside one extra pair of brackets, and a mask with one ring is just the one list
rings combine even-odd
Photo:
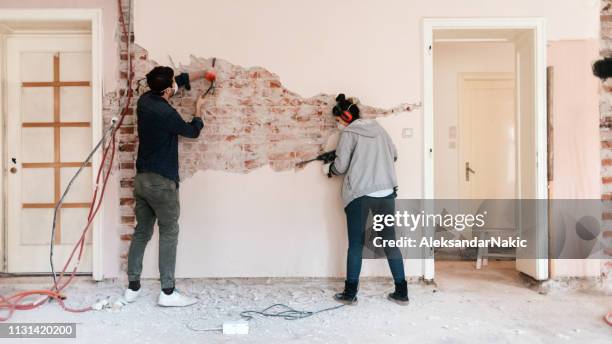
[[(120, 112), (119, 119), (113, 118), (111, 120), (110, 126), (104, 131), (100, 141), (96, 144), (96, 146), (93, 148), (91, 153), (87, 156), (86, 160), (81, 164), (81, 167), (79, 168), (79, 170), (76, 172), (76, 174), (72, 177), (72, 179), (66, 186), (66, 189), (64, 190), (64, 193), (62, 194), (62, 197), (55, 205), (54, 214), (53, 214), (53, 226), (51, 229), (51, 244), (50, 244), (50, 249), (49, 249), (49, 260), (50, 260), (51, 271), (53, 275), (53, 286), (49, 289), (22, 291), (22, 292), (15, 293), (8, 297), (4, 297), (0, 295), (0, 311), (7, 310), (8, 312), (5, 316), (0, 315), (0, 321), (6, 321), (10, 319), (13, 313), (17, 310), (30, 310), (30, 309), (37, 308), (40, 305), (44, 304), (45, 301), (47, 300), (56, 300), (64, 310), (69, 311), (69, 312), (80, 313), (80, 312), (87, 312), (87, 311), (92, 310), (91, 306), (85, 307), (85, 308), (68, 307), (64, 303), (64, 300), (66, 297), (64, 296), (63, 291), (73, 281), (74, 276), (76, 275), (77, 269), (81, 262), (81, 258), (83, 256), (83, 251), (85, 247), (85, 238), (86, 238), (87, 232), (90, 230), (91, 224), (94, 218), (96, 217), (96, 215), (98, 214), (98, 211), (100, 210), (100, 206), (102, 205), (102, 200), (104, 199), (104, 193), (106, 191), (106, 185), (108, 182), (108, 178), (110, 177), (110, 174), (113, 168), (113, 163), (115, 160), (117, 132), (118, 132), (118, 129), (123, 124), (123, 119), (128, 113), (128, 109), (131, 105), (132, 98), (133, 98), (132, 81), (134, 77), (133, 75), (134, 68), (133, 68), (132, 60), (131, 60), (131, 43), (132, 42), (131, 42), (131, 37), (129, 34), (131, 32), (132, 23), (131, 23), (131, 19), (129, 22), (126, 23), (126, 19), (123, 16), (121, 0), (117, 0), (117, 4), (118, 4), (118, 10), (119, 10), (119, 22), (120, 22), (120, 26), (122, 29), (123, 38), (125, 39), (125, 42), (127, 43), (127, 56), (128, 56), (127, 57), (128, 58), (127, 60), (127, 63), (128, 63), (127, 92), (125, 94), (123, 106), (121, 106), (121, 112)], [(128, 8), (128, 14), (130, 17), (131, 17), (131, 11), (132, 11), (132, 2), (130, 0), (129, 8)], [(59, 273), (59, 276), (58, 276), (58, 274), (55, 271), (55, 266), (53, 264), (53, 250), (54, 250), (54, 238), (55, 238), (55, 226), (56, 226), (57, 212), (61, 208), (64, 197), (70, 190), (72, 183), (76, 180), (76, 178), (81, 173), (83, 168), (91, 161), (93, 155), (100, 147), (103, 147), (102, 160), (101, 160), (100, 167), (96, 175), (96, 187), (93, 192), (92, 201), (91, 201), (91, 205), (89, 208), (89, 213), (87, 215), (87, 224), (83, 228), (81, 237), (79, 238), (74, 248), (72, 249), (72, 252), (68, 260), (64, 264), (62, 271)], [(105, 172), (105, 166), (107, 166), (106, 172)], [(77, 251), (78, 251), (78, 254), (76, 254)], [(74, 267), (72, 271), (68, 273), (68, 267), (75, 257), (76, 257), (76, 261), (74, 263)], [(23, 302), (24, 299), (31, 297), (31, 296), (36, 296), (36, 295), (40, 296), (36, 301), (29, 302), (29, 303)]]

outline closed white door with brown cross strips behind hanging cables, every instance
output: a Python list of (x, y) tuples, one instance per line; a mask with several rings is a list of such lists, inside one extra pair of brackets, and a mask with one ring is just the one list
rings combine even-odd
[[(7, 258), (10, 273), (48, 273), (49, 244), (61, 269), (87, 222), (93, 187), (86, 167), (53, 208), (92, 148), (91, 38), (7, 38)], [(90, 231), (91, 232), (91, 231)], [(90, 272), (91, 235), (80, 272)]]

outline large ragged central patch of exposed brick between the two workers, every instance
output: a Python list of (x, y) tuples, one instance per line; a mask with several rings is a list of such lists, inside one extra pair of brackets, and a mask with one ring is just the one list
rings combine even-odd
[[(142, 60), (140, 79), (156, 65)], [(191, 57), (180, 71), (210, 68), (212, 59)], [(320, 153), (336, 129), (331, 108), (335, 95), (303, 98), (283, 87), (280, 78), (260, 67), (243, 68), (217, 59), (218, 81), (214, 95), (203, 106), (204, 129), (197, 139), (180, 139), (181, 179), (198, 170), (248, 173), (270, 165), (274, 171), (295, 168), (295, 164)], [(207, 81), (192, 84), (170, 103), (188, 120), (195, 111), (195, 99), (208, 87)], [(391, 109), (360, 105), (365, 118), (409, 112), (418, 104), (400, 104)]]

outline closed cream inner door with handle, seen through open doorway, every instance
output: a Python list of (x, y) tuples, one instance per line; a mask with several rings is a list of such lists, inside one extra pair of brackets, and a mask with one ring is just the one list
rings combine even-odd
[(459, 78), (460, 198), (514, 199), (514, 75), (475, 73)]

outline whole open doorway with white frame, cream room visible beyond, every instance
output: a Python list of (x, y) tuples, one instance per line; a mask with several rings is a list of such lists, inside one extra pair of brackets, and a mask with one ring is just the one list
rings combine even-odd
[[(425, 198), (547, 198), (544, 29), (542, 19), (424, 21)], [(534, 210), (536, 230), (525, 231), (523, 208), (511, 210), (510, 229), (538, 252), (499, 255), (516, 271), (545, 280), (548, 260), (532, 257), (547, 252), (546, 216)], [(480, 238), (469, 230), (460, 235)], [(426, 261), (425, 278), (433, 278), (434, 259)]]

